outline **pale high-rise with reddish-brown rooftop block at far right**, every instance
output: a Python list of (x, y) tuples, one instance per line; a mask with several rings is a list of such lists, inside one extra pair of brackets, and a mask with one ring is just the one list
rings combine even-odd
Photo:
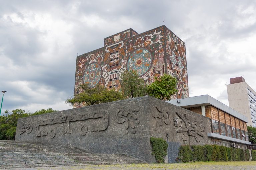
[(230, 79), (227, 85), (229, 107), (248, 118), (248, 126), (256, 127), (256, 92), (243, 77)]

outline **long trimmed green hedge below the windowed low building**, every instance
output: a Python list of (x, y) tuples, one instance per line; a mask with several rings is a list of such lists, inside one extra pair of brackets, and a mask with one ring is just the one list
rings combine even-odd
[[(256, 151), (252, 150), (252, 159), (256, 160)], [(249, 161), (248, 149), (230, 148), (219, 145), (180, 146), (177, 162), (195, 161)]]

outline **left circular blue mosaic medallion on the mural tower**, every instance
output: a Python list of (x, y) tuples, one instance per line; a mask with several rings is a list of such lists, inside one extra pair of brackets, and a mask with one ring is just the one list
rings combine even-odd
[(97, 63), (92, 63), (84, 71), (84, 84), (88, 84), (89, 88), (95, 87), (100, 81), (101, 67)]

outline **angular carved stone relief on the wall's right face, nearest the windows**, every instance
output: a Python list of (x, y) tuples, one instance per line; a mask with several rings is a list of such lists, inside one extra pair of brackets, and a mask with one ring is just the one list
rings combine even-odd
[[(192, 115), (188, 114), (180, 114), (177, 113), (178, 116), (173, 118), (173, 123), (175, 127), (178, 127), (177, 132), (187, 132), (188, 136), (195, 136), (195, 140), (197, 142), (201, 142), (201, 137), (205, 135), (205, 127), (201, 123), (201, 120), (196, 120)], [(186, 140), (186, 135), (182, 133), (182, 140)]]

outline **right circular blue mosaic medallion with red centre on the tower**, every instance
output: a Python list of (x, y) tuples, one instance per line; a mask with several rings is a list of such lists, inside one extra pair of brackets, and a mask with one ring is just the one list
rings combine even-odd
[(149, 70), (151, 61), (152, 56), (147, 49), (136, 49), (128, 59), (127, 70), (137, 70), (138, 75), (142, 76)]

